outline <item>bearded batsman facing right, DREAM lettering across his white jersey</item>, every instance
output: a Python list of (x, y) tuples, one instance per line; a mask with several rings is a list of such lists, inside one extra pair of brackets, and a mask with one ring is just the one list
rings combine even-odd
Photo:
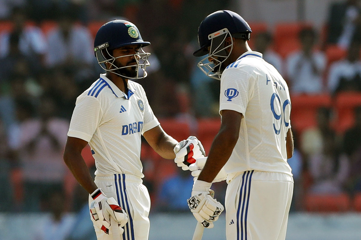
[[(94, 52), (106, 73), (77, 98), (71, 117), (64, 161), (90, 194), (97, 239), (148, 239), (150, 199), (142, 184), (141, 135), (160, 156), (174, 159), (183, 170), (205, 156), (194, 136), (178, 143), (163, 131), (144, 89), (131, 80), (147, 76), (150, 53), (143, 47), (149, 44), (129, 21), (101, 26)], [(87, 144), (95, 159), (95, 181), (81, 155)]]

